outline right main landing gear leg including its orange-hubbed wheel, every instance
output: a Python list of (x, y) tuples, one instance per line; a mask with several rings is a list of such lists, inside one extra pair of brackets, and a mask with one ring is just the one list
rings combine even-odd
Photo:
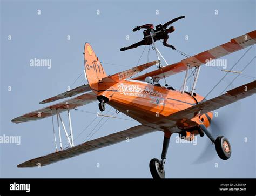
[(227, 138), (224, 136), (218, 136), (215, 140), (213, 139), (211, 133), (207, 130), (205, 126), (200, 126), (207, 137), (215, 144), (216, 152), (219, 158), (227, 160), (231, 157), (231, 145)]

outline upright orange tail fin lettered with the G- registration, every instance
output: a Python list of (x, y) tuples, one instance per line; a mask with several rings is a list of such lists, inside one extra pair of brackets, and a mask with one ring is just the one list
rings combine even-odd
[(84, 69), (91, 89), (97, 94), (98, 83), (107, 75), (89, 43), (84, 45)]

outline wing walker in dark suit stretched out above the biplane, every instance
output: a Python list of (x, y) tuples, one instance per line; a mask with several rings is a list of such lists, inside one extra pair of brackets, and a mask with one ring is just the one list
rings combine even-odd
[[(170, 48), (172, 48), (172, 50), (176, 50), (173, 45), (167, 44), (167, 40), (169, 39), (169, 35), (168, 34), (172, 33), (173, 31), (175, 31), (175, 28), (174, 28), (174, 26), (171, 26), (170, 28), (167, 29), (167, 27), (169, 25), (171, 25), (173, 22), (176, 22), (176, 21), (178, 21), (181, 18), (185, 18), (185, 16), (180, 16), (178, 18), (174, 18), (171, 21), (165, 23), (163, 25), (164, 31), (157, 33), (156, 36), (154, 36), (154, 41), (158, 41), (158, 40), (163, 39), (164, 40), (164, 42), (163, 42), (164, 46), (170, 47)], [(142, 26), (137, 26), (132, 31), (135, 32), (135, 31), (140, 30), (140, 29), (154, 30), (154, 25), (153, 24), (145, 24), (145, 25), (142, 25)], [(149, 32), (147, 30), (145, 30), (145, 31)], [(146, 36), (146, 35), (144, 34), (144, 36)], [(152, 39), (149, 36), (149, 37), (146, 37), (145, 39), (141, 40), (140, 42), (132, 44), (132, 45), (130, 45), (128, 47), (121, 48), (120, 51), (125, 51), (125, 50), (129, 50), (129, 49), (137, 48), (138, 46), (141, 46), (141, 45), (150, 45), (150, 44), (152, 44)]]

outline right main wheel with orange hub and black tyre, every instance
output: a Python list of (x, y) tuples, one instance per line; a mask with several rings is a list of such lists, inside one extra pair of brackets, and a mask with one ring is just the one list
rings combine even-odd
[(223, 159), (227, 160), (231, 156), (231, 145), (230, 142), (224, 136), (219, 136), (215, 140), (215, 148), (218, 156)]

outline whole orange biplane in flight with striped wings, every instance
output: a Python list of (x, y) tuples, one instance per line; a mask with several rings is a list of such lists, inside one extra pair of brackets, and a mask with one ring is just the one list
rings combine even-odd
[[(194, 93), (194, 89), (196, 87), (200, 66), (205, 64), (207, 60), (223, 57), (244, 49), (247, 46), (252, 46), (255, 42), (256, 31), (252, 31), (231, 39), (230, 42), (213, 49), (181, 60), (181, 62), (178, 63), (162, 66), (158, 56), (158, 60), (154, 62), (136, 66), (111, 76), (107, 76), (91, 45), (85, 43), (84, 69), (86, 73), (85, 77), (89, 84), (79, 86), (76, 89), (43, 100), (40, 103), (50, 103), (68, 97), (72, 97), (71, 99), (12, 119), (14, 123), (22, 123), (51, 117), (53, 123), (53, 116), (56, 115), (61, 150), (57, 150), (53, 125), (56, 152), (25, 161), (17, 167), (24, 168), (49, 165), (60, 160), (78, 156), (82, 153), (125, 141), (127, 138), (135, 138), (154, 131), (163, 131), (164, 140), (161, 159), (158, 160), (155, 158), (150, 161), (150, 171), (153, 178), (165, 177), (164, 164), (170, 137), (173, 133), (178, 133), (182, 139), (189, 141), (192, 141), (196, 135), (203, 137), (206, 134), (211, 142), (215, 144), (219, 157), (223, 160), (230, 158), (231, 145), (229, 141), (224, 136), (213, 138), (207, 129), (211, 125), (213, 117), (212, 111), (254, 94), (256, 92), (256, 81), (254, 80), (251, 83), (236, 87), (210, 100), (206, 100), (203, 96)], [(156, 53), (161, 56), (158, 50), (156, 50)], [(134, 77), (139, 72), (153, 65), (158, 66), (156, 70)], [(193, 89), (191, 92), (186, 92), (187, 72), (193, 67), (197, 69)], [(181, 91), (175, 90), (169, 85), (161, 86), (158, 83), (160, 79), (165, 79), (168, 76), (183, 71), (186, 71), (186, 74)], [(77, 94), (80, 95), (74, 97)], [(79, 106), (97, 101), (99, 102), (100, 111), (104, 111), (105, 104), (109, 104), (117, 111), (137, 120), (141, 125), (75, 146), (73, 142), (70, 109), (76, 109)], [(60, 113), (65, 111), (68, 112), (69, 116), (70, 134), (68, 134), (62, 117), (60, 116)], [(70, 147), (65, 150), (62, 150), (60, 124), (63, 126), (70, 145)]]

